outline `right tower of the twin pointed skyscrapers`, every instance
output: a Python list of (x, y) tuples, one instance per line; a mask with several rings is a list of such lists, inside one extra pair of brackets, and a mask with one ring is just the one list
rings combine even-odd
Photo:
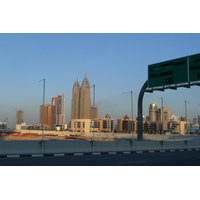
[(91, 119), (90, 83), (87, 77), (83, 79), (79, 95), (79, 119)]

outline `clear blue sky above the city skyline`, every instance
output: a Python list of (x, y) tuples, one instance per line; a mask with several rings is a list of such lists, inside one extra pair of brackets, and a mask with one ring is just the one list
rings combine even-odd
[[(15, 123), (17, 109), (24, 110), (27, 124), (39, 123), (42, 83), (46, 79), (46, 104), (51, 98), (66, 96), (67, 123), (71, 117), (72, 87), (76, 77), (82, 83), (85, 74), (96, 86), (99, 117), (115, 119), (130, 116), (133, 91), (134, 118), (139, 91), (147, 80), (148, 65), (200, 52), (200, 34), (183, 33), (105, 33), (105, 34), (0, 34), (1, 108), (0, 121), (8, 117)], [(166, 90), (144, 96), (144, 115), (155, 102), (170, 108), (171, 114), (184, 115), (188, 103), (190, 118), (200, 114), (199, 87)], [(92, 97), (92, 90), (91, 90)]]

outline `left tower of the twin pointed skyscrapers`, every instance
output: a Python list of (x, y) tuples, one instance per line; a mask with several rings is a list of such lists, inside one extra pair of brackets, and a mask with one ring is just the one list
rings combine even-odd
[(71, 119), (79, 118), (79, 91), (80, 84), (77, 79), (72, 89)]

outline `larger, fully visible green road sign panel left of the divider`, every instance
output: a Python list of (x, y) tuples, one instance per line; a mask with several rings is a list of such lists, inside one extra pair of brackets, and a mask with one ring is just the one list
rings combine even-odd
[(148, 66), (148, 87), (159, 87), (188, 82), (187, 57)]

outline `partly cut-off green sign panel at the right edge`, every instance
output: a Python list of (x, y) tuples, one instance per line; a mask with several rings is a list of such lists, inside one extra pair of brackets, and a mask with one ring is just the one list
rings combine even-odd
[(200, 54), (189, 57), (189, 81), (200, 80)]

